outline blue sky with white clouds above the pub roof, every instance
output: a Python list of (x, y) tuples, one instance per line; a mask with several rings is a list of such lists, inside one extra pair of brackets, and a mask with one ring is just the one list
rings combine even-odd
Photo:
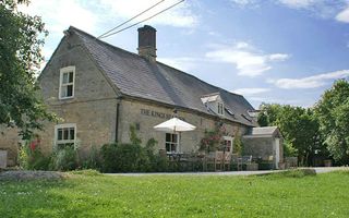
[[(137, 13), (134, 24), (180, 0), (32, 0), (48, 60), (70, 25), (99, 36)], [(262, 102), (312, 107), (334, 81), (349, 78), (349, 0), (185, 0), (103, 40), (137, 52), (137, 28), (157, 29), (157, 60)]]

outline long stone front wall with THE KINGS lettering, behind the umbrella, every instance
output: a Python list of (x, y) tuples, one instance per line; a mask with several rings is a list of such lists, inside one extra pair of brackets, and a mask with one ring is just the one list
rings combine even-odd
[[(136, 100), (122, 100), (120, 106), (119, 138), (121, 142), (130, 141), (130, 124), (140, 126), (137, 135), (143, 144), (154, 137), (158, 142), (156, 149), (165, 148), (166, 133), (155, 131), (154, 126), (169, 120), (173, 114), (173, 108), (148, 104)], [(196, 126), (194, 131), (182, 132), (180, 140), (181, 152), (190, 153), (197, 150), (200, 141), (204, 137), (205, 130), (214, 130), (216, 119), (195, 112), (178, 110), (177, 116)], [(240, 133), (245, 133), (245, 128), (239, 123), (226, 122), (224, 124), (229, 135), (239, 128)]]

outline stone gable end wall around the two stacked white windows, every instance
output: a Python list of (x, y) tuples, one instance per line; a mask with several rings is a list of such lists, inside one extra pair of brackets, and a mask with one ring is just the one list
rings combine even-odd
[[(59, 99), (60, 69), (69, 65), (75, 66), (74, 97)], [(74, 35), (62, 39), (39, 76), (39, 84), (49, 110), (62, 118), (58, 123), (76, 124), (76, 141), (83, 156), (91, 146), (115, 141), (116, 90)], [(45, 153), (55, 146), (55, 125), (46, 123), (45, 132), (39, 134)]]

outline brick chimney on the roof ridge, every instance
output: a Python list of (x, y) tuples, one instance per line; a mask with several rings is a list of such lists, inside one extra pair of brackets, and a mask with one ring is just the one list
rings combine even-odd
[(144, 25), (139, 28), (139, 55), (156, 61), (156, 29), (152, 26)]

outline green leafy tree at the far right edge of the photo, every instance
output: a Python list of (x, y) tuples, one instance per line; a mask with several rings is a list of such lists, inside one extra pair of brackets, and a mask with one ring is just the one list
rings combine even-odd
[(349, 82), (336, 81), (316, 104), (315, 112), (330, 155), (339, 164), (349, 164)]

